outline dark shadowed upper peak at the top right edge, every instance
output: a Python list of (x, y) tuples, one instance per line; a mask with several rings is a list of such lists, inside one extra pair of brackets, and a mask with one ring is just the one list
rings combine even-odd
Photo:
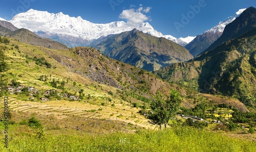
[(215, 49), (223, 42), (237, 38), (249, 30), (252, 30), (256, 27), (256, 9), (253, 7), (249, 7), (246, 9), (238, 18), (236, 18), (232, 23), (228, 24), (223, 31), (223, 34), (218, 38), (209, 48), (207, 48), (204, 52)]

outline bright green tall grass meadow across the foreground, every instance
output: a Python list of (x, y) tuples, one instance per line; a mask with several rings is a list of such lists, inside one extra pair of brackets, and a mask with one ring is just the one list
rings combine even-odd
[(0, 151), (256, 151), (256, 142), (229, 138), (190, 127), (136, 134), (10, 136)]

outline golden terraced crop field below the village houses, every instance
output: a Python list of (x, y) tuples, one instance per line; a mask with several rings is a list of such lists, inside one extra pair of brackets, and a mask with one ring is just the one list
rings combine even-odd
[(121, 121), (144, 128), (156, 128), (138, 113), (139, 110), (137, 108), (124, 104), (115, 104), (115, 107), (112, 107), (67, 100), (34, 102), (17, 101), (15, 98), (9, 98), (9, 109), (28, 114), (54, 115), (57, 119), (73, 116), (85, 119)]

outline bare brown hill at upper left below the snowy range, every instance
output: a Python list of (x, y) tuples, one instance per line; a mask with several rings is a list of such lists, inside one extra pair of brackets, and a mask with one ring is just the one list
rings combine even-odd
[(39, 36), (27, 29), (18, 29), (15, 31), (11, 31), (8, 32), (6, 36), (34, 46), (41, 46), (51, 49), (68, 49), (65, 45), (62, 45), (54, 40), (40, 38)]

